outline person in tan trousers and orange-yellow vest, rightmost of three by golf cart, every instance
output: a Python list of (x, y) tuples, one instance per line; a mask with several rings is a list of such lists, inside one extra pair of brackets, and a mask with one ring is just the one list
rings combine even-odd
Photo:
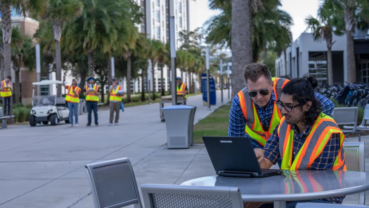
[(122, 102), (121, 96), (124, 95), (124, 93), (118, 93), (118, 91), (121, 91), (122, 87), (118, 85), (118, 81), (116, 79), (113, 79), (113, 85), (110, 85), (109, 88), (109, 108), (110, 108), (110, 117), (109, 117), (109, 124), (108, 126), (113, 125), (113, 116), (115, 111), (115, 120), (114, 124), (118, 126), (118, 120), (119, 120), (119, 110), (120, 110), (120, 102)]

